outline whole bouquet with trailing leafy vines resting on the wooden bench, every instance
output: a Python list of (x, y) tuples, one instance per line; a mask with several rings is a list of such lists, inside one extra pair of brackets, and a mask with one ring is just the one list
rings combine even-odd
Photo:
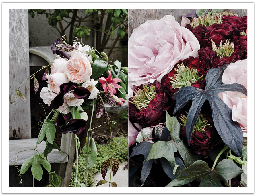
[[(95, 115), (95, 105), (96, 118), (100, 118), (102, 114), (106, 118), (106, 122), (104, 123), (110, 128), (111, 145), (113, 145), (111, 127), (116, 121), (110, 121), (105, 106), (114, 107), (116, 105), (122, 105), (125, 102), (125, 95), (128, 92), (128, 69), (127, 67), (121, 67), (121, 63), (117, 60), (109, 60), (106, 53), (99, 53), (96, 49), (84, 45), (82, 42), (80, 43), (80, 41), (75, 38), (73, 41), (74, 44), (69, 45), (66, 43), (64, 36), (55, 40), (51, 45), (51, 50), (54, 54), (57, 54), (57, 56), (53, 59), (51, 64), (42, 68), (45, 70), (42, 81), (47, 80), (47, 86), (41, 89), (40, 97), (45, 104), (51, 106), (53, 109), (46, 115), (44, 122), (41, 122), (42, 128), (38, 135), (32, 156), (27, 159), (20, 168), (20, 174), (23, 174), (31, 166), (33, 186), (34, 179), (40, 181), (42, 178), (43, 170), (40, 165), (41, 163), (48, 171), (50, 184), (55, 187), (61, 185), (60, 176), (55, 172), (51, 172), (51, 165), (47, 161), (47, 156), (53, 148), (60, 150), (59, 146), (54, 142), (56, 127), (59, 127), (60, 133), (75, 134), (76, 178), (74, 183), (75, 186), (87, 186), (86, 180), (84, 182), (77, 180), (78, 160), (80, 155), (78, 150), (79, 152), (83, 151), (87, 154), (85, 174), (85, 179), (87, 179), (87, 163), (93, 166), (98, 156), (96, 145), (92, 138), (92, 130), (98, 127), (93, 128), (91, 126), (93, 116)], [(29, 78), (34, 80), (34, 91), (37, 93), (39, 84), (38, 80), (35, 78), (35, 73)], [(24, 94), (20, 92), (19, 88), (12, 100), (13, 104), (18, 97), (26, 102), (26, 98)], [(87, 114), (89, 108), (92, 110), (90, 119), (88, 119)], [(77, 134), (81, 133), (86, 135), (86, 140), (81, 141), (85, 146), (80, 144), (79, 137), (77, 136)], [(46, 148), (44, 152), (38, 152), (37, 145), (42, 142), (45, 137)], [(105, 180), (109, 166), (115, 175), (119, 167), (119, 162), (113, 157), (113, 151), (110, 158), (102, 163), (101, 172), (104, 180), (100, 180), (97, 186), (107, 182), (113, 187), (117, 186), (115, 182)]]

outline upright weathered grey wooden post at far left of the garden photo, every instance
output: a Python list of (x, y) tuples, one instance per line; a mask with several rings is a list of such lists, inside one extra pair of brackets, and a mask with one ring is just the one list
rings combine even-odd
[[(9, 102), (28, 77), (28, 9), (9, 9)], [(29, 86), (27, 81), (20, 88), (26, 103), (17, 98), (9, 107), (9, 138), (31, 138)]]

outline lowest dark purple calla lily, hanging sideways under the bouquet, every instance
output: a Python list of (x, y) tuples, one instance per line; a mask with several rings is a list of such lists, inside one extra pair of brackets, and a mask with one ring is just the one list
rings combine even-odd
[(85, 130), (86, 124), (87, 121), (85, 121), (84, 119), (71, 119), (69, 121), (69, 124), (61, 127), (59, 132), (80, 134)]

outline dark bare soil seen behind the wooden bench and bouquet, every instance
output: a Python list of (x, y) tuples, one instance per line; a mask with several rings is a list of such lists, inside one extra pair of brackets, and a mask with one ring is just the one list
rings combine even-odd
[[(35, 73), (38, 68), (33, 67), (30, 69), (31, 74)], [(44, 104), (42, 99), (40, 98), (40, 90), (42, 87), (46, 86), (46, 81), (41, 81), (42, 75), (44, 71), (40, 71), (36, 74), (36, 78), (39, 82), (39, 90), (36, 94), (34, 94), (33, 89), (33, 80), (30, 80), (30, 107), (31, 107), (31, 136), (32, 138), (37, 138), (41, 126), (38, 125), (38, 122), (44, 121), (45, 113), (48, 114), (51, 111), (51, 107)], [(42, 103), (42, 104), (40, 104)], [(44, 106), (44, 109), (43, 109)], [(122, 118), (122, 116), (118, 112), (109, 113), (110, 121), (116, 120), (117, 124), (112, 128), (112, 136), (128, 136), (128, 123), (127, 119)], [(105, 121), (105, 118), (102, 116), (98, 119), (96, 127), (101, 125)], [(61, 133), (58, 132), (58, 128), (56, 128), (57, 133), (55, 134), (55, 142), (60, 146), (61, 143)], [(107, 125), (102, 125), (100, 128), (95, 129), (93, 134), (94, 140), (99, 144), (105, 144), (110, 139), (110, 130)]]

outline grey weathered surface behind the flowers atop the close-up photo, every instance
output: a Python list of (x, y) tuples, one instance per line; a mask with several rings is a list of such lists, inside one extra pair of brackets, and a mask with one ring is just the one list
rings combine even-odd
[[(129, 37), (133, 32), (133, 29), (143, 24), (147, 20), (161, 19), (165, 15), (172, 15), (176, 21), (181, 23), (181, 16), (186, 16), (193, 9), (129, 9)], [(247, 9), (224, 9), (225, 11), (231, 11), (239, 16), (247, 15)]]

